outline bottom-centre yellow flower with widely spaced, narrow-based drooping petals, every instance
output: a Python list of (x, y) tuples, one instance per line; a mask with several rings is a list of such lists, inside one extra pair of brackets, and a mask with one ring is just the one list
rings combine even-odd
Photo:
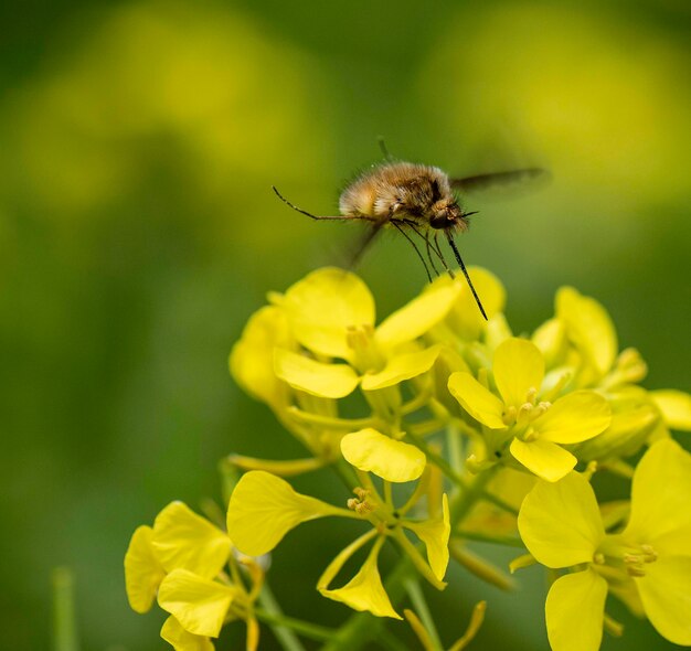
[[(365, 437), (389, 439), (375, 431)], [(398, 441), (391, 441), (397, 445)], [(376, 442), (374, 442), (376, 445)], [(410, 446), (408, 446), (410, 447)], [(270, 552), (295, 526), (327, 515), (354, 520), (368, 520), (373, 529), (348, 545), (331, 562), (318, 581), (319, 591), (355, 610), (368, 610), (378, 617), (400, 616), (393, 610), (384, 591), (376, 568), (379, 551), (386, 540), (393, 537), (411, 556), (415, 566), (435, 587), (442, 583), (448, 565), (448, 537), (450, 534), (449, 510), (446, 495), (443, 513), (416, 522), (396, 513), (393, 504), (381, 500), (372, 489), (358, 489), (358, 499), (349, 501), (349, 510), (332, 506), (315, 498), (296, 492), (290, 484), (268, 472), (254, 470), (237, 482), (227, 511), (227, 529), (237, 548), (244, 554), (258, 556)], [(414, 532), (427, 548), (427, 562), (422, 559), (415, 546), (407, 540), (403, 527)], [(357, 575), (342, 588), (331, 589), (329, 584), (344, 563), (364, 544), (376, 537), (370, 554)]]

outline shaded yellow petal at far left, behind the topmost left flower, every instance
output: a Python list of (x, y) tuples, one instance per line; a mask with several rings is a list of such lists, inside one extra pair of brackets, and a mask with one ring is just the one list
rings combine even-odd
[(274, 373), (274, 348), (295, 343), (284, 312), (266, 306), (252, 314), (230, 357), (235, 382), (254, 398), (277, 408), (285, 401), (286, 385)]

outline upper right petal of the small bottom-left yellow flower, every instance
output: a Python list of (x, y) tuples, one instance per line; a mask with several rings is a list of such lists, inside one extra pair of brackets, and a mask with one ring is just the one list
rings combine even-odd
[(205, 578), (216, 576), (231, 553), (227, 534), (182, 502), (157, 515), (151, 545), (166, 572), (182, 568)]

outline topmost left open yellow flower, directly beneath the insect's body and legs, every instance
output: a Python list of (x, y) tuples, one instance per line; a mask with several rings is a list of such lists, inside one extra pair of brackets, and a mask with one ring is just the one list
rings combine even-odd
[(414, 342), (446, 316), (458, 291), (457, 285), (428, 290), (375, 328), (374, 299), (360, 278), (336, 268), (313, 271), (274, 297), (310, 353), (278, 348), (276, 375), (296, 389), (327, 398), (344, 397), (358, 385), (372, 392), (416, 377), (429, 371), (439, 348)]

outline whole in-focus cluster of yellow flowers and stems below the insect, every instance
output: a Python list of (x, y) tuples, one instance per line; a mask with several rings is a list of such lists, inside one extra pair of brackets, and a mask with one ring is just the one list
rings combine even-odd
[[(322, 629), (267, 615), (255, 600), (267, 589), (256, 558), (300, 523), (327, 516), (366, 531), (334, 551), (317, 578), (319, 593), (393, 619), (402, 619), (406, 594), (414, 610), (403, 613), (426, 649), (442, 647), (419, 578), (444, 589), (454, 558), (489, 583), (510, 585), (467, 548), (472, 540), (522, 541), (530, 555), (513, 569), (540, 563), (571, 570), (546, 601), (555, 651), (594, 651), (603, 627), (617, 629), (604, 615), (607, 591), (669, 640), (691, 644), (691, 456), (669, 431), (691, 429), (691, 397), (639, 385), (641, 356), (619, 352), (594, 299), (562, 288), (554, 317), (517, 337), (499, 280), (483, 269), (470, 275), (487, 322), (465, 284), (438, 278), (378, 324), (366, 286), (336, 268), (270, 294), (249, 319), (231, 373), (308, 456), (232, 455), (245, 473), (230, 497), (225, 531), (179, 503), (152, 529), (137, 530), (126, 557), (130, 604), (145, 611), (158, 595), (171, 615), (161, 634), (178, 651), (212, 648), (210, 638), (234, 619), (247, 623), (248, 648), (263, 617), (326, 639)], [(330, 504), (287, 481), (322, 467), (353, 497)], [(606, 471), (632, 478), (630, 505), (598, 504), (589, 479)], [(404, 586), (395, 596), (379, 568), (387, 544), (401, 558), (387, 581)], [(333, 587), (365, 547), (360, 568)], [(249, 572), (238, 572), (238, 559)], [(583, 608), (587, 626), (578, 628)], [(483, 609), (478, 605), (453, 649), (471, 640)], [(346, 633), (337, 638), (338, 648), (349, 648)]]

